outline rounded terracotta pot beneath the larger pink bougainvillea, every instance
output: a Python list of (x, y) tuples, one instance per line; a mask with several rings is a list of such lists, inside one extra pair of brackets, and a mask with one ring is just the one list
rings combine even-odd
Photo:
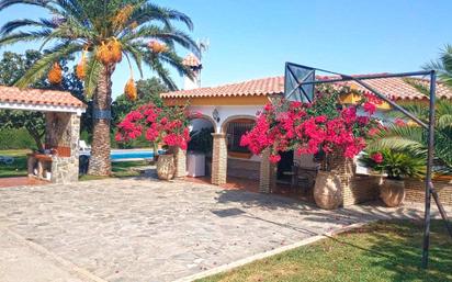
[(314, 200), (317, 206), (335, 210), (342, 204), (340, 179), (332, 171), (319, 171), (314, 187)]

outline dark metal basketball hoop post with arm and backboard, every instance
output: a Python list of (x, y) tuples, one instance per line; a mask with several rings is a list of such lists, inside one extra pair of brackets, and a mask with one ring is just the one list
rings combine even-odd
[[(452, 237), (452, 226), (449, 223), (448, 214), (445, 213), (445, 210), (443, 205), (441, 204), (440, 199), (438, 196), (438, 192), (436, 191), (433, 183), (432, 183), (432, 166), (433, 166), (433, 154), (434, 154), (434, 108), (436, 108), (434, 105), (436, 105), (437, 72), (434, 70), (420, 70), (420, 71), (411, 71), (411, 72), (381, 74), (381, 75), (353, 77), (353, 76), (348, 76), (348, 75), (329, 71), (329, 70), (325, 70), (320, 68), (314, 68), (314, 67), (307, 67), (307, 66), (297, 65), (293, 63), (286, 63), (285, 65), (286, 74), (289, 71), (291, 75), (294, 75), (293, 71), (291, 71), (290, 69), (291, 66), (304, 68), (308, 70), (308, 75), (305, 75), (303, 79), (297, 79), (294, 76), (297, 84), (295, 88), (291, 90), (291, 92), (285, 93), (286, 98), (290, 98), (291, 95), (294, 94), (295, 90), (300, 89), (302, 90), (301, 92), (303, 93), (303, 95), (305, 95), (305, 99), (307, 101), (310, 101), (308, 94), (303, 90), (302, 88), (303, 86), (307, 86), (307, 84), (315, 86), (315, 84), (324, 84), (324, 83), (354, 81), (358, 84), (371, 91), (377, 98), (388, 103), (391, 106), (393, 106), (397, 111), (400, 111), (407, 117), (409, 117), (410, 120), (416, 122), (418, 125), (420, 125), (421, 127), (428, 131), (427, 174), (426, 174), (426, 181), (425, 181), (426, 183), (425, 215), (423, 215), (425, 224), (423, 224), (423, 242), (422, 242), (422, 260), (421, 260), (422, 268), (427, 269), (428, 262), (429, 262), (429, 247), (430, 247), (431, 196), (433, 196), (434, 202), (437, 203), (438, 210), (441, 214), (441, 217), (445, 224), (445, 228), (448, 229), (449, 235)], [(315, 80), (314, 74), (316, 70), (338, 76), (338, 78), (331, 78), (331, 79), (326, 79), (326, 80)], [(306, 80), (306, 78), (309, 77), (309, 75), (314, 75), (314, 80), (312, 81)], [(414, 77), (414, 76), (429, 76), (430, 77), (430, 80), (429, 80), (429, 83), (430, 83), (429, 86), (429, 123), (428, 124), (426, 124), (419, 117), (417, 117), (416, 115), (414, 115), (413, 113), (404, 109), (403, 106), (398, 105), (396, 102), (392, 101), (386, 95), (382, 94), (375, 88), (371, 87), (369, 83), (363, 81), (363, 80), (378, 79), (378, 78), (399, 78), (399, 77)]]

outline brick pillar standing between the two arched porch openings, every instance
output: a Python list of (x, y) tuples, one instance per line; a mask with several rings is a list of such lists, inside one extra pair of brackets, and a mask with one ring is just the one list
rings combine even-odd
[(227, 147), (226, 135), (224, 133), (212, 133), (214, 146), (212, 154), (212, 184), (221, 185), (226, 183), (227, 176)]

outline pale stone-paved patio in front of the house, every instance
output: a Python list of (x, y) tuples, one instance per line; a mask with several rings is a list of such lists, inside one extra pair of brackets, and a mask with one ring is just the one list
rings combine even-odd
[[(82, 281), (172, 281), (350, 224), (421, 215), (416, 206), (328, 212), (287, 198), (183, 181), (9, 188), (0, 199), (0, 236), (45, 249)], [(16, 261), (4, 256), (0, 281), (14, 281), (2, 277)]]

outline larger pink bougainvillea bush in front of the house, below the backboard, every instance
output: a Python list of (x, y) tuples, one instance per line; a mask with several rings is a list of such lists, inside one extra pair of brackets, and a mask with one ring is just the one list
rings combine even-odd
[(256, 155), (270, 149), (272, 162), (278, 162), (280, 153), (287, 150), (353, 158), (364, 149), (366, 138), (380, 131), (380, 123), (372, 115), (381, 101), (365, 94), (358, 104), (346, 106), (339, 102), (346, 93), (350, 89), (323, 87), (316, 90), (313, 103), (276, 99), (258, 114), (255, 128), (241, 137), (240, 145)]

